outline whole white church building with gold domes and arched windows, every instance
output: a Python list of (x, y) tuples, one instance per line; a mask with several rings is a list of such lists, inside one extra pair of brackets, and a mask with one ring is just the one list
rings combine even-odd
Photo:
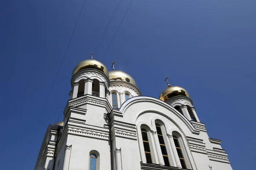
[(35, 170), (232, 170), (184, 88), (142, 96), (130, 75), (94, 59), (76, 65), (71, 86)]

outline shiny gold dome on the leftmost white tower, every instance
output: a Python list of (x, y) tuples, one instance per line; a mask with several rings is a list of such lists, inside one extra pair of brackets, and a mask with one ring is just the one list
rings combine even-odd
[(76, 74), (78, 71), (86, 68), (94, 68), (99, 71), (102, 71), (108, 77), (107, 67), (95, 59), (86, 59), (84, 61), (79, 62), (78, 65), (76, 65), (76, 67), (74, 68), (72, 76)]

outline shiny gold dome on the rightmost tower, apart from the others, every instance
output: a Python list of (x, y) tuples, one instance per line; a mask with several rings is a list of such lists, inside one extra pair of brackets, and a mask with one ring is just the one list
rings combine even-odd
[(174, 96), (186, 96), (189, 98), (189, 93), (181, 87), (173, 86), (166, 88), (159, 96), (159, 99), (162, 101), (166, 101), (167, 99), (170, 99)]

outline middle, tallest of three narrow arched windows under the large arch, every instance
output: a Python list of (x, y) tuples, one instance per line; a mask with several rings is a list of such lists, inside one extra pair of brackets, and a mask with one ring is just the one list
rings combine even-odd
[(157, 128), (157, 136), (158, 136), (158, 139), (159, 139), (164, 164), (166, 166), (170, 166), (170, 162), (169, 162), (169, 158), (168, 158), (168, 154), (167, 154), (167, 150), (166, 150), (166, 145), (165, 145), (165, 142), (164, 142), (164, 139), (163, 139), (163, 133), (162, 133), (162, 130), (161, 130), (161, 126), (156, 123), (156, 128)]

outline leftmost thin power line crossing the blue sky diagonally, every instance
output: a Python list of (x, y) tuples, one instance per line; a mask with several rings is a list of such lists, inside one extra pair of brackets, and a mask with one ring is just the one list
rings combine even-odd
[[(84, 0), (84, 3), (85, 3), (85, 0)], [(54, 80), (54, 82), (53, 82), (53, 85), (52, 85), (50, 94), (49, 94), (49, 96), (48, 96), (48, 98), (47, 98), (46, 104), (44, 105), (44, 110), (43, 110), (43, 112), (42, 112), (42, 114), (41, 114), (41, 118), (39, 119), (38, 125), (40, 124), (41, 119), (42, 119), (42, 117), (43, 117), (43, 115), (44, 115), (45, 108), (46, 108), (46, 106), (47, 106), (47, 104), (48, 104), (48, 101), (49, 101), (49, 98), (50, 98), (50, 96), (51, 96), (51, 94), (52, 94), (52, 89), (53, 89), (53, 87), (54, 87), (54, 85), (55, 85), (55, 82), (56, 82), (56, 80), (57, 80), (57, 78), (58, 78), (58, 74), (59, 74), (59, 72), (60, 72), (60, 70), (61, 70), (61, 66), (62, 66), (62, 64), (63, 64), (63, 61), (64, 61), (65, 57), (66, 57), (67, 50), (68, 50), (68, 48), (69, 48), (69, 46), (70, 46), (70, 42), (71, 42), (72, 37), (73, 37), (73, 34), (74, 34), (75, 30), (76, 30), (76, 26), (77, 26), (78, 20), (79, 20), (79, 18), (80, 18), (81, 12), (82, 12), (82, 10), (83, 10), (83, 8), (84, 8), (84, 3), (83, 3), (83, 6), (82, 6), (82, 8), (81, 8), (81, 11), (80, 11), (80, 13), (79, 13), (79, 17), (78, 17), (78, 19), (76, 20), (76, 25), (75, 25), (75, 27), (74, 27), (74, 29), (73, 29), (72, 35), (71, 35), (70, 40), (69, 40), (69, 42), (68, 42), (68, 45), (67, 45), (65, 54), (64, 54), (64, 56), (63, 56), (63, 58), (62, 58), (61, 65), (60, 65), (60, 67), (59, 67), (59, 69), (58, 69), (58, 73), (57, 73), (57, 75), (56, 75), (56, 77), (55, 77), (55, 80)], [(34, 138), (35, 138), (36, 132), (37, 132), (37, 129), (35, 130), (35, 133), (34, 133), (34, 135), (33, 135), (33, 137), (32, 137), (32, 140), (31, 140), (31, 142), (30, 142), (30, 144), (29, 144), (29, 149), (28, 149), (27, 152), (26, 152), (26, 155), (25, 155), (24, 160), (23, 160), (23, 164), (21, 165), (21, 169), (23, 168), (24, 162), (25, 162), (26, 157), (27, 157), (27, 155), (28, 155), (28, 153), (29, 153), (31, 144), (32, 144), (32, 142), (33, 142), (33, 140), (34, 140)]]

